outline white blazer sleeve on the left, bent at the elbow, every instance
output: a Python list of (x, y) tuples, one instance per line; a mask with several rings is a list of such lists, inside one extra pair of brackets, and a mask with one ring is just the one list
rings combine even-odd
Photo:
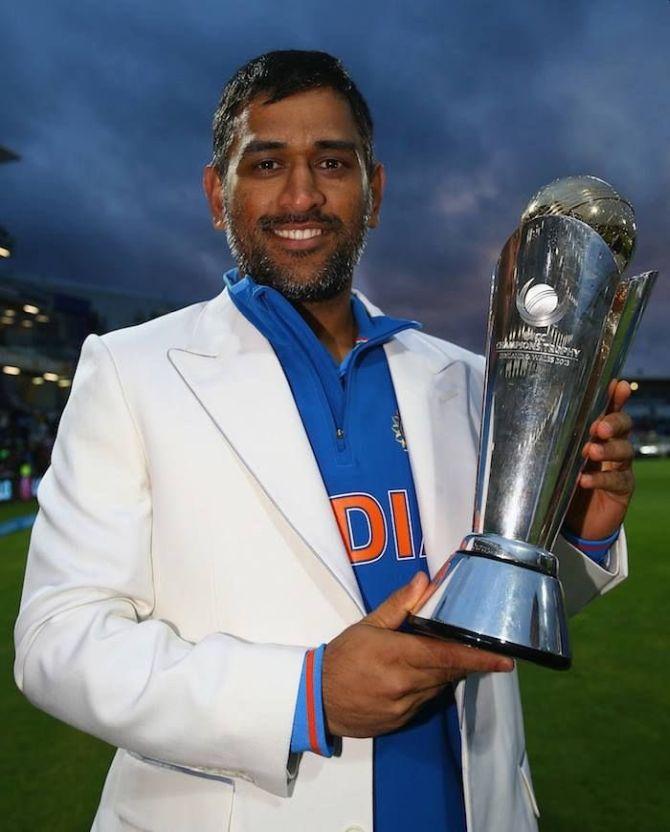
[(82, 347), (38, 501), (15, 629), (28, 699), (143, 757), (289, 794), (305, 648), (219, 632), (192, 643), (152, 618), (148, 466), (98, 336)]

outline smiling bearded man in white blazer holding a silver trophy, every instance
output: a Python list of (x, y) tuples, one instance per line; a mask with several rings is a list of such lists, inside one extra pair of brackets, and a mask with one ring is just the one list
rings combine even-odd
[[(384, 171), (339, 62), (239, 70), (204, 186), (238, 269), (85, 342), (18, 684), (121, 749), (104, 832), (535, 829), (511, 660), (402, 631), (469, 530), (482, 361), (351, 294)], [(568, 515), (591, 551), (557, 544), (572, 611), (625, 576), (627, 395)]]

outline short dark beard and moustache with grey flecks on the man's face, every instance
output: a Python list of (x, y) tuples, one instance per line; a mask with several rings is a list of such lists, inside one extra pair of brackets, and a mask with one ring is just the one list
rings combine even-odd
[[(234, 209), (227, 200), (224, 203), (226, 238), (240, 273), (251, 275), (256, 283), (276, 289), (293, 303), (331, 300), (351, 288), (354, 267), (365, 248), (371, 214), (372, 191), (368, 190), (360, 216), (350, 228), (339, 217), (310, 211), (305, 214), (263, 216), (257, 221), (257, 228), (252, 233), (243, 235), (239, 231)], [(310, 221), (318, 223), (328, 233), (337, 235), (338, 239), (325, 263), (315, 268), (307, 278), (301, 279), (290, 266), (280, 265), (272, 258), (265, 235), (272, 233), (277, 226)], [(291, 251), (289, 254), (299, 261), (310, 257), (312, 252)]]

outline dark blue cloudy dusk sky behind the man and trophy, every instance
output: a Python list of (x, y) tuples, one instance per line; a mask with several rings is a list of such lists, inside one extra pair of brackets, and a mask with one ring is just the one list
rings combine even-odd
[(670, 2), (22, 0), (0, 13), (3, 273), (184, 304), (232, 265), (201, 191), (221, 87), (285, 48), (341, 57), (388, 188), (356, 285), (482, 351), (491, 271), (531, 195), (591, 173), (661, 271), (628, 367), (670, 375)]

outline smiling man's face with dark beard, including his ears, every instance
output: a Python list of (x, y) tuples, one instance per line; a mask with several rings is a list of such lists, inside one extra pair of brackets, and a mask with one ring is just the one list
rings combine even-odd
[(349, 104), (333, 90), (265, 100), (238, 116), (223, 182), (205, 170), (212, 214), (243, 273), (289, 300), (327, 300), (349, 289), (383, 171), (368, 176)]

